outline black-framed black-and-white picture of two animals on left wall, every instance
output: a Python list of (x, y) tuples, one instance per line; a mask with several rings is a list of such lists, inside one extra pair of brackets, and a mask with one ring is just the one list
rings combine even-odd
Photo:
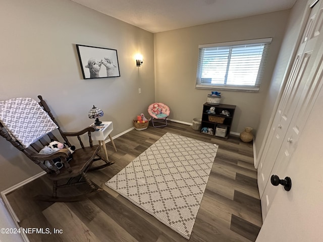
[(84, 79), (120, 77), (116, 49), (76, 45)]

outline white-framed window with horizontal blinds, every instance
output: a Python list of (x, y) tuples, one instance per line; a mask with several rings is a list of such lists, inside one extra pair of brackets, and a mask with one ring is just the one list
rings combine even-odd
[(199, 45), (196, 88), (259, 91), (272, 38)]

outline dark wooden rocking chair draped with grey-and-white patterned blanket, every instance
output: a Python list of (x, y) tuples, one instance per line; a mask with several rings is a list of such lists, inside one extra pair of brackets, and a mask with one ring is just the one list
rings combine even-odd
[[(112, 163), (100, 155), (99, 145), (92, 144), (91, 132), (94, 132), (95, 129), (87, 127), (79, 132), (63, 132), (46, 102), (41, 96), (38, 98), (40, 99), (39, 103), (32, 98), (13, 98), (0, 101), (0, 135), (46, 171), (47, 177), (52, 180), (52, 196), (39, 195), (37, 199), (49, 202), (72, 202), (85, 199), (89, 194), (101, 191), (102, 189), (95, 186), (87, 177), (86, 172), (91, 170), (93, 161), (104, 161), (103, 165), (93, 169), (100, 169)], [(74, 151), (73, 158), (69, 162), (67, 159), (71, 153), (65, 148), (49, 155), (39, 154), (39, 151), (50, 141), (59, 141), (53, 134), (55, 131), (69, 147), (71, 147), (71, 143), (67, 137), (74, 136), (79, 140), (81, 148)], [(86, 133), (88, 147), (84, 146), (80, 137)], [(57, 158), (60, 158), (64, 164), (61, 169), (58, 169), (54, 164), (53, 160)], [(49, 161), (50, 168), (44, 164), (45, 161)], [(62, 184), (62, 182), (64, 183)], [(58, 188), (80, 184), (88, 184), (91, 192), (74, 197), (59, 197), (57, 194)]]

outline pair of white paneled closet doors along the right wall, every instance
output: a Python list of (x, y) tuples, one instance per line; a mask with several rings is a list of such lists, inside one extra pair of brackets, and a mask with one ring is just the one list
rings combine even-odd
[[(293, 118), (297, 118), (298, 124), (304, 124), (307, 115), (303, 115), (302, 112), (306, 112), (308, 108), (311, 108), (310, 104), (313, 104), (310, 102), (313, 98), (311, 87), (316, 85), (313, 68), (318, 68), (319, 63), (317, 63), (316, 57), (319, 58), (318, 50), (322, 42), (320, 31), (323, 23), (323, 4), (321, 2), (316, 4), (311, 11), (298, 49), (299, 53), (296, 55), (289, 82), (284, 90), (275, 117), (276, 120), (273, 123), (270, 144), (267, 145), (266, 155), (262, 156), (264, 157), (263, 163), (260, 161), (258, 168), (258, 187), (263, 220), (277, 191), (270, 183), (270, 176), (272, 173), (284, 170), (302, 130), (299, 125), (297, 127), (291, 126)], [(301, 51), (302, 53), (300, 53)]]

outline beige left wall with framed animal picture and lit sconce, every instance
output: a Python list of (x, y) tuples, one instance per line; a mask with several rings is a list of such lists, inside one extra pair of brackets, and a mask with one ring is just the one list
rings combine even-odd
[[(90, 125), (96, 105), (101, 120), (113, 121), (112, 136), (120, 134), (154, 101), (150, 32), (67, 0), (2, 1), (0, 30), (0, 100), (41, 94), (65, 131)], [(75, 44), (117, 49), (121, 77), (83, 80)], [(143, 67), (135, 66), (136, 52)], [(0, 139), (0, 191), (39, 171)]]

